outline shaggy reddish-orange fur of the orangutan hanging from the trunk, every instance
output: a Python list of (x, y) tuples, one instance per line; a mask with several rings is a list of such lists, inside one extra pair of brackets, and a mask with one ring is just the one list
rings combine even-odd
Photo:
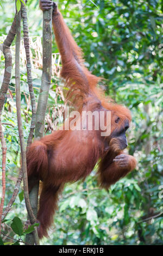
[[(43, 10), (41, 3), (40, 7)], [(130, 123), (130, 111), (126, 107), (108, 102), (97, 86), (99, 78), (84, 66), (82, 50), (73, 40), (57, 7), (53, 11), (53, 29), (61, 54), (61, 77), (68, 89), (66, 101), (71, 102), (79, 112), (111, 111), (111, 135), (124, 127), (126, 121)], [(118, 123), (115, 121), (117, 117), (120, 118)], [(32, 143), (27, 153), (29, 184), (34, 185), (33, 179), (43, 182), (37, 214), (40, 238), (47, 235), (57, 209), (59, 193), (66, 182), (85, 179), (99, 159), (99, 183), (105, 188), (135, 168), (133, 156), (128, 156), (125, 168), (113, 162), (122, 150), (120, 143), (116, 138), (111, 138), (111, 135), (102, 137), (100, 131), (95, 129), (58, 130)], [(32, 186), (29, 186), (30, 189)]]

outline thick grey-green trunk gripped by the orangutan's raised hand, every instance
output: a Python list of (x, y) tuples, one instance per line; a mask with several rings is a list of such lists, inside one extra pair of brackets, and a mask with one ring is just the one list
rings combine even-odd
[[(36, 111), (35, 139), (40, 139), (43, 136), (45, 125), (45, 114), (47, 109), (47, 101), (49, 89), (51, 86), (52, 74), (52, 9), (43, 11), (43, 32), (42, 32), (42, 79), (39, 93), (39, 100)], [(29, 198), (35, 216), (37, 215), (37, 199), (39, 192), (39, 182), (30, 191)], [(33, 234), (26, 235), (26, 242), (34, 244)]]

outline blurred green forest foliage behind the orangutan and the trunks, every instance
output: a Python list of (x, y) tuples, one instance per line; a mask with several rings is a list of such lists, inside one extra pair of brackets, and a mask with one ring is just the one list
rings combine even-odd
[[(27, 3), (30, 36), (41, 35), (42, 15), (37, 0)], [(94, 3), (94, 4), (93, 4)], [(14, 17), (14, 1), (1, 1), (0, 42), (7, 35)], [(159, 197), (163, 185), (162, 162), (162, 17), (161, 0), (127, 1), (66, 0), (59, 3), (78, 45), (83, 48), (86, 65), (97, 76), (105, 78), (101, 87), (118, 103), (131, 109), (133, 124), (128, 132), (129, 152), (137, 159), (137, 168), (126, 178), (100, 190), (96, 170), (84, 183), (67, 185), (55, 215), (55, 227), (43, 244), (51, 245), (159, 245), (162, 244), (162, 215), (143, 221), (142, 217), (162, 212)], [(33, 38), (33, 37), (32, 37)], [(58, 53), (53, 40), (53, 52)], [(12, 48), (14, 54), (14, 46)], [(33, 58), (35, 51), (32, 46)], [(0, 55), (0, 80), (4, 58)], [(15, 63), (13, 63), (14, 68)], [(58, 68), (60, 65), (58, 66)], [(33, 67), (35, 95), (40, 87), (41, 66)], [(14, 70), (14, 69), (13, 69)], [(57, 94), (61, 82), (52, 77), (45, 132), (53, 130), (55, 111), (63, 103)], [(31, 110), (28, 107), (27, 74), (21, 66), (22, 117), (25, 139), (29, 132)], [(54, 101), (54, 98), (57, 101)], [(53, 111), (54, 110), (54, 111)], [(53, 112), (53, 113), (52, 113)], [(49, 116), (52, 118), (50, 120)], [(59, 115), (58, 115), (59, 116)], [(60, 122), (61, 120), (59, 120)], [(20, 168), (20, 147), (15, 107), (14, 71), (3, 112), (4, 135), (7, 141), (7, 194), (11, 196)], [(20, 191), (22, 193), (22, 190)], [(21, 197), (22, 198), (22, 194)], [(16, 199), (3, 224), (3, 233), (13, 237), (17, 216), (26, 221), (23, 200)], [(13, 221), (12, 221), (13, 220)], [(21, 225), (21, 224), (20, 224)], [(20, 230), (20, 229), (18, 229)], [(22, 228), (21, 228), (22, 230)], [(16, 233), (17, 235), (18, 232)], [(14, 238), (16, 235), (14, 236)], [(3, 242), (13, 243), (3, 236)], [(0, 244), (2, 240), (0, 240)]]

